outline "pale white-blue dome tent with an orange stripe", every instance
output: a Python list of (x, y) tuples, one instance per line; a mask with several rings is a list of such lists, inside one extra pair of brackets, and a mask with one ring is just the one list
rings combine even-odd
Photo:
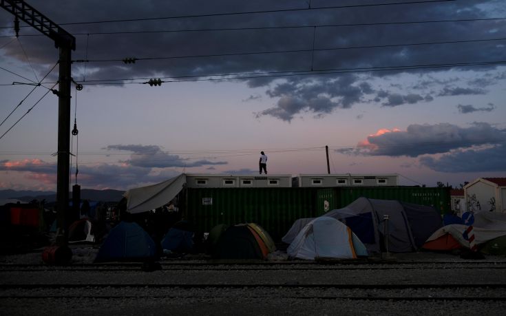
[(297, 234), (286, 253), (291, 257), (357, 258), (368, 255), (366, 246), (349, 227), (335, 218), (322, 216), (311, 220)]

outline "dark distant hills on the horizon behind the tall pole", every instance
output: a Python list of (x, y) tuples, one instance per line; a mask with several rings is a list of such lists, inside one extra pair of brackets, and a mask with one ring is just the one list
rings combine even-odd
[[(118, 202), (123, 198), (125, 191), (119, 190), (94, 190), (94, 189), (81, 189), (81, 199), (91, 201), (103, 202)], [(72, 192), (69, 195), (72, 199)], [(32, 200), (45, 200), (46, 202), (56, 201), (56, 192), (54, 191), (15, 191), (15, 190), (0, 190), (0, 200), (17, 199), (23, 202), (30, 202)]]

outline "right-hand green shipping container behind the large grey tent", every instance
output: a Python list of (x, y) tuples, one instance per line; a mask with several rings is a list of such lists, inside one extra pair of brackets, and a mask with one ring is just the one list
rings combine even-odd
[(339, 187), (336, 208), (365, 197), (379, 200), (399, 200), (434, 207), (441, 215), (450, 213), (450, 188), (443, 187)]

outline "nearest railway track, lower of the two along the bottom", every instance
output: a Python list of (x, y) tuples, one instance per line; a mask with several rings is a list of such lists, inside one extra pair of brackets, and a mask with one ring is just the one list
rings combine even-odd
[[(506, 302), (506, 284), (11, 284), (5, 299), (351, 299)], [(212, 294), (211, 294), (212, 293)], [(478, 293), (478, 294), (476, 294)]]

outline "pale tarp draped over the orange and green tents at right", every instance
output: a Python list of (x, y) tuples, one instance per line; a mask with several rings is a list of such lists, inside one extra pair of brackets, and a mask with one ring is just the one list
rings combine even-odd
[[(474, 223), (472, 224), (474, 231), (474, 242), (483, 244), (494, 238), (506, 235), (506, 214), (494, 212), (478, 212), (474, 213)], [(450, 224), (435, 231), (428, 238), (428, 242), (435, 240), (442, 235), (449, 233), (458, 243), (469, 248), (469, 241), (463, 236), (467, 226), (463, 224)]]

